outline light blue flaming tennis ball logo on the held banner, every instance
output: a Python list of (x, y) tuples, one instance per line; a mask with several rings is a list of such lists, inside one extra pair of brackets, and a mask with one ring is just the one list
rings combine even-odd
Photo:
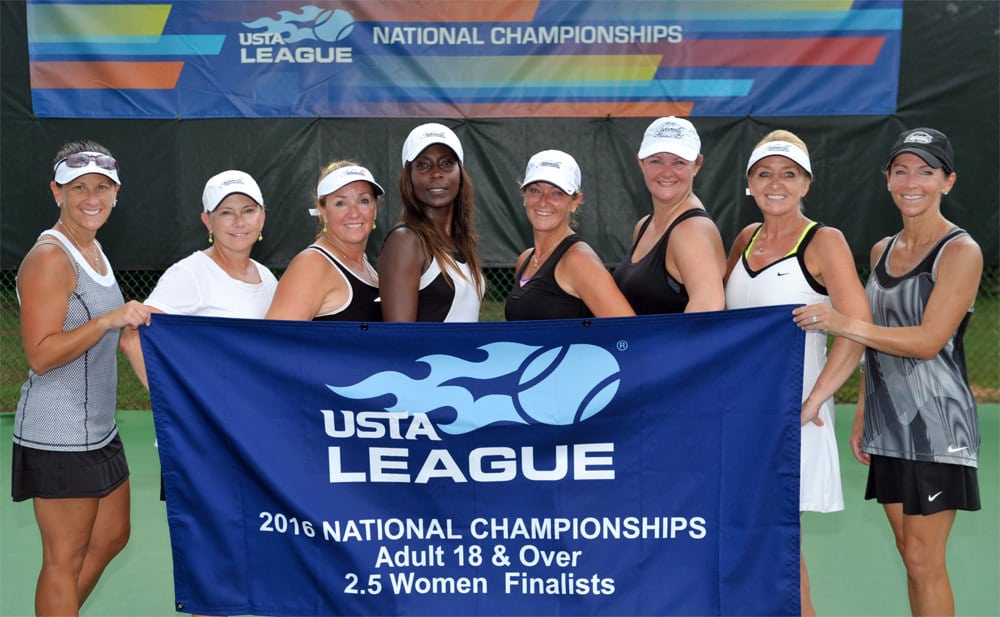
[(498, 422), (582, 422), (608, 406), (621, 381), (614, 356), (596, 345), (498, 342), (479, 351), (485, 354), (481, 361), (444, 354), (419, 358), (422, 377), (384, 371), (353, 385), (327, 387), (353, 400), (394, 397), (386, 411), (440, 412), (438, 429), (460, 435)]

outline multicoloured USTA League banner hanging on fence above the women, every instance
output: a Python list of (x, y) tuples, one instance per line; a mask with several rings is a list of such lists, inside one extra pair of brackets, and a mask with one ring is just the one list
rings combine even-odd
[(40, 117), (886, 115), (902, 0), (28, 0)]

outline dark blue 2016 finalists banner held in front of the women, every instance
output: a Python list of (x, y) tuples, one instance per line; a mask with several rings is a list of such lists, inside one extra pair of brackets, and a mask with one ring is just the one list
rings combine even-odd
[(155, 315), (177, 610), (797, 615), (790, 312)]

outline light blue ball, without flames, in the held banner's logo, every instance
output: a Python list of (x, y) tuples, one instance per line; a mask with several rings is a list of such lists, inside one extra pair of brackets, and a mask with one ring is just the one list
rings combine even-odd
[(543, 349), (521, 365), (514, 405), (529, 421), (568, 425), (607, 407), (618, 392), (621, 369), (594, 345)]

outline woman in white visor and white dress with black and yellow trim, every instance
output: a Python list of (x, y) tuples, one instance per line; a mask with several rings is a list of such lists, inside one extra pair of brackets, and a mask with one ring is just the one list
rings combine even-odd
[[(794, 133), (768, 133), (750, 154), (747, 186), (763, 223), (743, 229), (729, 253), (726, 307), (831, 303), (861, 320), (871, 312), (840, 231), (810, 220), (803, 198), (812, 184), (809, 151)], [(799, 512), (844, 509), (833, 395), (855, 371), (863, 348), (826, 334), (806, 335), (802, 378)], [(802, 614), (815, 615), (805, 558), (799, 556)]]

